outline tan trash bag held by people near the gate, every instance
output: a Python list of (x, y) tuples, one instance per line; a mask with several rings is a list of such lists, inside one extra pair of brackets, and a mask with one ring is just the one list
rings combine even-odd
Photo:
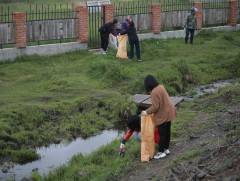
[(117, 37), (118, 40), (118, 51), (117, 51), (117, 58), (122, 58), (122, 59), (128, 59), (127, 56), (127, 41), (128, 41), (128, 36), (127, 35), (119, 35)]

